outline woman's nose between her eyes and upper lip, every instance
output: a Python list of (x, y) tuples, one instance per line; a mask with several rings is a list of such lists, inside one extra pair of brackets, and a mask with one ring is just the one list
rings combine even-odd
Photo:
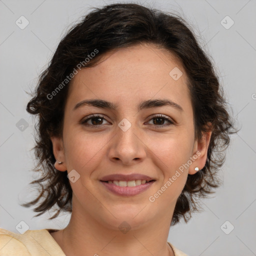
[(127, 130), (120, 127), (116, 127), (116, 134), (109, 141), (109, 159), (122, 165), (141, 162), (146, 157), (146, 145), (141, 132), (135, 124), (131, 124)]

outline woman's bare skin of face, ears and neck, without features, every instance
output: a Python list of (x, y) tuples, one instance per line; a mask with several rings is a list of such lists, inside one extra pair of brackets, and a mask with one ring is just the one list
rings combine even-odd
[[(174, 80), (169, 72), (178, 67), (183, 75)], [(78, 71), (71, 81), (64, 109), (63, 133), (51, 137), (56, 169), (69, 173), (75, 169), (80, 178), (70, 182), (73, 191), (72, 214), (68, 225), (51, 233), (64, 253), (69, 255), (174, 255), (167, 244), (168, 232), (177, 197), (187, 174), (202, 169), (211, 131), (200, 140), (194, 137), (193, 112), (187, 77), (182, 65), (165, 49), (140, 44), (114, 50), (104, 55), (96, 66)], [(116, 110), (82, 106), (84, 99), (104, 99), (118, 105)], [(170, 99), (183, 111), (160, 106), (137, 111), (147, 99)], [(90, 114), (103, 115), (100, 128)], [(175, 120), (158, 123), (152, 114)], [(118, 123), (126, 118), (131, 127), (123, 131)], [(163, 127), (155, 127), (153, 124)], [(149, 201), (169, 177), (189, 157), (200, 155), (157, 198)], [(62, 164), (58, 164), (62, 161)], [(140, 173), (156, 181), (135, 196), (119, 196), (99, 181), (113, 173)], [(127, 233), (118, 226), (126, 221)]]

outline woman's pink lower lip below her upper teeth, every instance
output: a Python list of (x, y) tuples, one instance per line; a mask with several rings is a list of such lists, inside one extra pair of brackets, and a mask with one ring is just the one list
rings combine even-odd
[(108, 183), (103, 181), (100, 181), (100, 182), (114, 194), (122, 195), (122, 196), (132, 196), (132, 195), (139, 194), (145, 191), (146, 189), (148, 189), (154, 183), (154, 181), (150, 181), (145, 184), (141, 184), (137, 186), (117, 186), (114, 183)]

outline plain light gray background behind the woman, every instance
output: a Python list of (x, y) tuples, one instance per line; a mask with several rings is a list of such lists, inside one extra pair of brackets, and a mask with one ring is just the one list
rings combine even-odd
[[(15, 226), (23, 220), (29, 229), (59, 229), (69, 221), (70, 215), (65, 213), (51, 221), (47, 220), (50, 212), (33, 218), (36, 213), (32, 208), (18, 203), (36, 194), (28, 185), (37, 176), (31, 171), (34, 120), (25, 111), (29, 100), (25, 91), (35, 86), (39, 73), (71, 23), (87, 13), (89, 7), (105, 3), (113, 2), (95, 1), (91, 5), (88, 0), (0, 0), (2, 228), (17, 232)], [(187, 224), (181, 221), (173, 226), (168, 240), (190, 256), (256, 255), (256, 1), (165, 0), (145, 4), (148, 3), (155, 8), (174, 11), (191, 24), (200, 44), (214, 60), (236, 124), (241, 127), (231, 136), (226, 161), (220, 171), (223, 185), (211, 198), (202, 201), (202, 212), (193, 214)], [(15, 23), (21, 15), (29, 21), (24, 29)], [(234, 21), (229, 29), (221, 24), (226, 15)], [(231, 24), (230, 19), (222, 22), (226, 26)], [(226, 220), (229, 222), (222, 225)], [(226, 234), (231, 225), (234, 229)]]

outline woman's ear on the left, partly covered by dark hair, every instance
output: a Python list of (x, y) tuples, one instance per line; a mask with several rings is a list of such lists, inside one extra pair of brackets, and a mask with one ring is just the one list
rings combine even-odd
[[(54, 163), (54, 167), (60, 171), (66, 171), (66, 161), (65, 161), (65, 154), (64, 154), (64, 146), (63, 140), (61, 137), (52, 136), (50, 137), (52, 142), (52, 150), (54, 157), (56, 159)], [(58, 163), (62, 162), (62, 163)]]

